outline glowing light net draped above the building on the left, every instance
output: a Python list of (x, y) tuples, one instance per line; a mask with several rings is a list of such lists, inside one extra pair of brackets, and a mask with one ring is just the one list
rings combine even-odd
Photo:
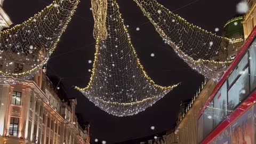
[(49, 59), (78, 0), (55, 0), (33, 18), (0, 34), (0, 75), (29, 79)]

